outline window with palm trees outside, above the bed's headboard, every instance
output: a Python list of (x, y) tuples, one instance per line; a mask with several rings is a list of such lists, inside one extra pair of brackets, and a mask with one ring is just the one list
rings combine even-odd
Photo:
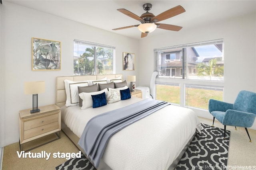
[(113, 74), (115, 47), (74, 40), (74, 75)]

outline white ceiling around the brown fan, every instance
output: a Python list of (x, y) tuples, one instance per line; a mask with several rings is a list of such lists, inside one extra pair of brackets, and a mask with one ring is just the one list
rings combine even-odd
[[(141, 16), (145, 11), (142, 5), (151, 3), (150, 10), (155, 16), (181, 5), (186, 12), (161, 21), (172, 25), (179, 25), (188, 29), (206, 25), (208, 23), (227, 20), (236, 16), (242, 16), (256, 12), (255, 0), (2, 0), (46, 12), (70, 20), (85, 23), (93, 27), (105, 29), (128, 37), (140, 39), (141, 32), (137, 27), (113, 31), (114, 28), (140, 24), (139, 21), (130, 18), (117, 9), (126, 10)], [(168, 30), (156, 29), (148, 36), (156, 36), (168, 33)]]

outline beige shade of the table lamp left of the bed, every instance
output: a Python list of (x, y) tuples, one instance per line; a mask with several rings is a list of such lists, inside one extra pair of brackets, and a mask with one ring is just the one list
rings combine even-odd
[(39, 94), (45, 92), (45, 82), (25, 82), (24, 93), (25, 94)]

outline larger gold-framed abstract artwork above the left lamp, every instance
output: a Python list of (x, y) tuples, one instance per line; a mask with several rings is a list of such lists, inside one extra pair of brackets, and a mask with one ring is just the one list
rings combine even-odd
[(60, 42), (32, 37), (32, 70), (60, 70)]

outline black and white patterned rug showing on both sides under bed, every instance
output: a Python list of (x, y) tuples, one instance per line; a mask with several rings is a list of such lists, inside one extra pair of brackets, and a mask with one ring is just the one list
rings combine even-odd
[[(202, 124), (201, 134), (196, 136), (188, 146), (176, 166), (176, 170), (225, 170), (228, 163), (228, 146), (230, 131), (226, 131), (226, 140), (223, 139), (224, 129)], [(93, 170), (96, 169), (82, 155), (82, 158), (73, 158), (55, 168), (56, 170)]]

